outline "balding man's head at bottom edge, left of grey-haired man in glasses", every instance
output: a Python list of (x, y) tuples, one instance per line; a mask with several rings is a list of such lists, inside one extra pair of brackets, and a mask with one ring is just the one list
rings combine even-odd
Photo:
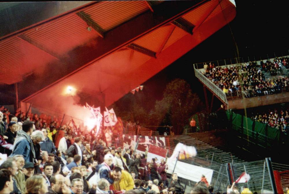
[(51, 186), (48, 187), (48, 193), (58, 194), (58, 193), (71, 193), (70, 189), (66, 186), (66, 180), (61, 174), (51, 176), (50, 178)]

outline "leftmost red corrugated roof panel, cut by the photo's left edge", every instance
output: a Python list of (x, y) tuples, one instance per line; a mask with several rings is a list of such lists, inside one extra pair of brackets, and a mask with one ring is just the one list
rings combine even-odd
[(13, 37), (0, 44), (0, 66), (16, 74), (25, 74), (55, 58), (25, 40)]

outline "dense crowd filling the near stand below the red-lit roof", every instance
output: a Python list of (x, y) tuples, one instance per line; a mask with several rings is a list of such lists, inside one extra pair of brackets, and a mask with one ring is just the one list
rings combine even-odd
[[(4, 119), (5, 118), (5, 119)], [(8, 119), (9, 118), (9, 119)], [(0, 111), (0, 192), (5, 193), (184, 193), (177, 173), (167, 178), (164, 159), (124, 148), (103, 128), (99, 138), (54, 117)], [(55, 119), (55, 120), (54, 120)], [(93, 130), (92, 130), (93, 131)], [(5, 144), (6, 145), (6, 144)], [(212, 193), (205, 177), (191, 193)]]

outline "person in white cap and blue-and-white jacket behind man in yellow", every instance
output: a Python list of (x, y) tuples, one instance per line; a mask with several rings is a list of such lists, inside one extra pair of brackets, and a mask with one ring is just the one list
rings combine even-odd
[(110, 166), (113, 164), (113, 156), (112, 154), (106, 154), (104, 156), (104, 162), (101, 165), (98, 165), (96, 168), (96, 172), (99, 173), (99, 178), (104, 178), (108, 180), (110, 184), (113, 183), (113, 180), (110, 178)]

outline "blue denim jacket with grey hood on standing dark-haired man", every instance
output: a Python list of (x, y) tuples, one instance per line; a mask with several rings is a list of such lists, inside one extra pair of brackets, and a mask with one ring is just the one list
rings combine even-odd
[(29, 135), (23, 130), (17, 132), (11, 156), (23, 155), (25, 161), (34, 163), (35, 151)]

